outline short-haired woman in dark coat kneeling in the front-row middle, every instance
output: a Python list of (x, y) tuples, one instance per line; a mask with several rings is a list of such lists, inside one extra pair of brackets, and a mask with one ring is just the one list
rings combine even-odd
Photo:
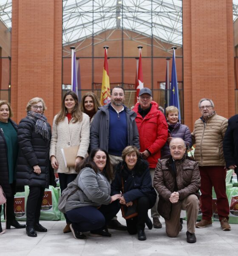
[(111, 184), (111, 194), (116, 195), (122, 192), (122, 180), (124, 193), (120, 204), (127, 207), (137, 200), (138, 216), (127, 219), (127, 231), (130, 234), (138, 235), (139, 240), (146, 240), (144, 233), (145, 224), (152, 229), (153, 224), (148, 217), (148, 209), (151, 209), (156, 202), (156, 192), (152, 187), (149, 163), (140, 158), (138, 149), (134, 146), (127, 146), (122, 151), (123, 161), (116, 167), (115, 179)]

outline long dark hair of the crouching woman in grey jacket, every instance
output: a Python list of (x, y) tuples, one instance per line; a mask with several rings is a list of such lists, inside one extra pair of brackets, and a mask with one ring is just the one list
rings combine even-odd
[(96, 155), (96, 152), (98, 152), (98, 151), (102, 151), (106, 154), (107, 160), (106, 160), (106, 165), (105, 165), (105, 169), (104, 169), (103, 173), (108, 178), (108, 180), (113, 180), (113, 171), (112, 171), (111, 162), (110, 162), (108, 152), (102, 148), (94, 148), (90, 152), (88, 157), (86, 157), (84, 160), (82, 160), (81, 162), (79, 162), (77, 164), (75, 171), (77, 173), (79, 173), (83, 168), (89, 167), (89, 168), (93, 169), (95, 173), (97, 173), (99, 171), (99, 169), (96, 166), (96, 163), (94, 162), (94, 157)]

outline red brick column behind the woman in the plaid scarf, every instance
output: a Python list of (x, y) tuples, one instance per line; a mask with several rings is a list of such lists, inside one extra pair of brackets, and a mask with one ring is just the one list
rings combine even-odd
[(11, 106), (14, 120), (26, 116), (26, 104), (41, 97), (52, 123), (62, 87), (62, 0), (13, 0)]

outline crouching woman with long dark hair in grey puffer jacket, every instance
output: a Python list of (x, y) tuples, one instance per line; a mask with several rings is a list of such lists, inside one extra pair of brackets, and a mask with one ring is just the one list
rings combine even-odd
[(94, 149), (76, 167), (76, 179), (68, 184), (71, 191), (66, 203), (66, 215), (72, 222), (71, 231), (75, 239), (85, 239), (83, 232), (91, 236), (111, 237), (106, 224), (119, 212), (120, 194), (111, 196), (111, 164), (108, 153)]

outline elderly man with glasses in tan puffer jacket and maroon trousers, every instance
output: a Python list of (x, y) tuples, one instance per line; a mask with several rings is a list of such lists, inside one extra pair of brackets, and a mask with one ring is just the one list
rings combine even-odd
[(212, 226), (212, 186), (217, 196), (217, 210), (222, 230), (231, 230), (228, 224), (229, 203), (226, 195), (226, 169), (223, 154), (223, 140), (228, 120), (218, 116), (211, 99), (198, 103), (201, 117), (195, 121), (192, 133), (195, 142), (195, 160), (201, 175), (202, 220), (195, 227)]

